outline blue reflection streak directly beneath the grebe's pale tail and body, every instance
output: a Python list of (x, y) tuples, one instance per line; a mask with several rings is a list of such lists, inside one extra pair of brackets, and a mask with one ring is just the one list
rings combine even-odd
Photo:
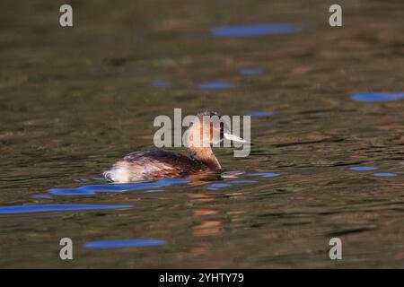
[(97, 192), (124, 192), (135, 189), (148, 189), (168, 187), (173, 184), (189, 183), (189, 179), (182, 178), (165, 178), (155, 182), (137, 182), (130, 184), (105, 184), (105, 185), (89, 185), (73, 188), (50, 188), (48, 192), (56, 196), (89, 196), (95, 195)]

